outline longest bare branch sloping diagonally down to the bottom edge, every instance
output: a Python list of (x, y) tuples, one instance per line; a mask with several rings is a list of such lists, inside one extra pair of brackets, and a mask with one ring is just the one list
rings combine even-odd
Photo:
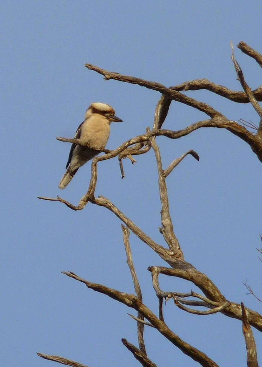
[(204, 367), (218, 367), (218, 365), (212, 361), (205, 353), (201, 352), (200, 350), (194, 348), (192, 345), (186, 343), (181, 338), (178, 337), (177, 334), (173, 333), (170, 328), (161, 321), (154, 313), (142, 304), (139, 299), (133, 294), (127, 294), (123, 292), (119, 292), (115, 289), (103, 286), (102, 284), (91, 283), (83, 278), (80, 278), (76, 274), (72, 272), (62, 272), (63, 274), (84, 283), (88, 288), (93, 289), (94, 291), (103, 293), (108, 295), (110, 298), (115, 299), (123, 303), (124, 305), (134, 308), (137, 311), (140, 311), (142, 315), (161, 333), (167, 338), (172, 344), (177, 346), (183, 353), (188, 355), (193, 360), (199, 362), (201, 366)]

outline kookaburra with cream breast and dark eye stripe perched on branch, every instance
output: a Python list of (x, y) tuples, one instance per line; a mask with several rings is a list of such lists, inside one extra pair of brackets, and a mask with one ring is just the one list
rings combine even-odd
[(66, 163), (66, 172), (59, 183), (59, 189), (64, 189), (68, 185), (79, 167), (105, 149), (110, 135), (111, 122), (123, 121), (114, 113), (113, 107), (106, 103), (95, 102), (88, 107), (85, 119), (77, 128), (74, 136), (75, 139), (80, 139), (83, 145), (72, 144)]

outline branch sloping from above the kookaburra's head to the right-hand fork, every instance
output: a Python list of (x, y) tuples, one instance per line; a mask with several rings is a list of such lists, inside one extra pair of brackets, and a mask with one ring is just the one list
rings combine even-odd
[[(136, 78), (134, 76), (121, 75), (115, 72), (112, 73), (112, 72), (109, 72), (108, 70), (104, 70), (92, 64), (85, 64), (84, 66), (88, 68), (89, 70), (94, 70), (95, 72), (102, 74), (105, 77), (105, 80), (114, 79), (118, 81), (123, 81), (125, 83), (138, 84), (141, 87), (146, 87), (146, 88), (153, 89), (155, 91), (160, 92), (161, 94), (165, 95), (165, 97), (167, 98), (167, 101), (168, 99), (174, 99), (174, 101), (181, 102), (188, 106), (196, 108), (206, 113), (208, 116), (212, 118), (223, 116), (222, 113), (216, 111), (214, 108), (212, 108), (207, 103), (196, 101), (196, 99), (190, 98), (186, 96), (185, 94), (182, 94), (176, 90), (167, 88), (163, 84), (156, 83), (155, 81), (148, 81), (148, 80)], [(167, 105), (168, 105), (168, 102), (166, 103), (166, 106)]]

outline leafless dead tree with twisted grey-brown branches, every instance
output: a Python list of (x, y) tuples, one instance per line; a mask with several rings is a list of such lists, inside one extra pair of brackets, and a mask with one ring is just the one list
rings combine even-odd
[[(254, 58), (256, 62), (262, 67), (262, 55), (253, 50), (244, 42), (240, 42), (237, 45), (241, 51), (243, 51), (248, 56)], [(236, 135), (250, 146), (252, 151), (262, 162), (262, 109), (258, 101), (262, 101), (262, 86), (259, 86), (255, 90), (247, 85), (244, 79), (243, 72), (240, 68), (239, 63), (234, 57), (234, 51), (232, 46), (232, 61), (234, 68), (237, 73), (237, 79), (240, 81), (243, 88), (241, 91), (233, 91), (224, 86), (212, 83), (207, 79), (192, 80), (182, 83), (174, 87), (165, 87), (164, 85), (152, 81), (147, 81), (139, 79), (137, 77), (121, 75), (116, 72), (109, 72), (107, 70), (101, 69), (98, 66), (91, 64), (85, 64), (89, 70), (94, 70), (95, 72), (102, 74), (105, 80), (114, 79), (122, 81), (125, 83), (138, 84), (139, 86), (153, 89), (161, 93), (161, 98), (157, 103), (154, 123), (152, 128), (146, 128), (145, 134), (138, 135), (137, 137), (131, 138), (128, 141), (121, 144), (115, 150), (105, 150), (105, 155), (95, 157), (92, 161), (91, 166), (91, 179), (87, 193), (80, 199), (79, 204), (76, 206), (69, 203), (61, 197), (49, 198), (49, 197), (39, 197), (43, 200), (60, 201), (72, 210), (82, 210), (88, 203), (102, 206), (113, 212), (123, 223), (121, 228), (123, 231), (123, 239), (125, 251), (127, 254), (127, 262), (132, 275), (134, 288), (136, 295), (127, 294), (120, 292), (118, 290), (108, 288), (102, 284), (92, 283), (88, 280), (81, 278), (80, 276), (72, 272), (63, 272), (65, 275), (80, 281), (85, 284), (88, 288), (95, 290), (97, 292), (108, 295), (114, 300), (125, 304), (126, 306), (133, 308), (137, 311), (137, 316), (130, 315), (133, 319), (137, 321), (138, 327), (138, 345), (139, 348), (132, 345), (126, 339), (122, 339), (123, 344), (128, 350), (134, 355), (134, 357), (142, 364), (142, 366), (156, 366), (153, 363), (146, 352), (146, 346), (143, 339), (143, 329), (145, 326), (155, 328), (159, 333), (161, 333), (165, 338), (167, 338), (175, 347), (180, 349), (183, 353), (188, 355), (194, 361), (197, 361), (201, 366), (214, 367), (218, 366), (210, 357), (208, 357), (204, 352), (195, 348), (194, 346), (188, 344), (186, 341), (182, 340), (177, 334), (175, 334), (165, 323), (163, 316), (163, 300), (167, 301), (172, 299), (174, 305), (184, 310), (185, 312), (193, 313), (196, 315), (210, 315), (211, 313), (221, 312), (223, 315), (228, 317), (233, 317), (238, 320), (242, 320), (243, 334), (245, 338), (246, 350), (247, 350), (247, 366), (254, 367), (258, 366), (257, 356), (256, 356), (256, 344), (252, 334), (251, 326), (259, 331), (262, 331), (262, 316), (251, 309), (245, 308), (244, 304), (237, 304), (225, 298), (219, 288), (209, 279), (204, 273), (197, 270), (194, 265), (186, 262), (182, 247), (175, 235), (172, 219), (170, 216), (169, 202), (168, 202), (168, 192), (166, 186), (166, 178), (171, 174), (172, 170), (187, 156), (191, 155), (196, 160), (199, 160), (199, 156), (193, 150), (189, 150), (184, 153), (181, 157), (175, 159), (167, 168), (163, 168), (161, 162), (161, 155), (159, 147), (156, 143), (157, 136), (165, 136), (170, 139), (179, 139), (185, 135), (190, 134), (194, 130), (204, 127), (216, 127), (224, 128), (230, 131), (232, 134)], [(232, 121), (227, 119), (226, 116), (222, 115), (219, 111), (212, 108), (210, 105), (204, 102), (197, 101), (196, 99), (190, 98), (181, 91), (186, 90), (200, 90), (206, 89), (213, 93), (216, 93), (224, 98), (228, 98), (236, 103), (251, 103), (256, 112), (259, 115), (259, 123), (256, 126), (253, 123), (248, 123), (247, 121)], [(207, 120), (198, 121), (183, 130), (172, 131), (162, 129), (162, 125), (167, 116), (168, 109), (172, 101), (177, 101), (191, 106), (192, 108), (198, 109), (204, 112), (207, 116)], [(252, 130), (252, 131), (251, 131)], [(63, 142), (74, 142), (79, 143), (76, 139), (68, 138), (57, 138)], [(159, 228), (160, 233), (163, 235), (167, 246), (164, 247), (161, 244), (156, 243), (152, 238), (150, 238), (146, 233), (144, 233), (130, 218), (119, 210), (109, 199), (104, 196), (95, 196), (95, 189), (98, 180), (97, 165), (100, 161), (112, 159), (118, 156), (120, 170), (122, 178), (124, 177), (124, 168), (122, 160), (124, 158), (129, 158), (132, 163), (135, 162), (134, 156), (145, 154), (150, 149), (153, 149), (157, 170), (158, 170), (158, 182), (159, 182), (159, 195), (161, 201), (161, 227)], [(155, 315), (152, 310), (145, 304), (143, 304), (141, 288), (139, 286), (139, 281), (137, 274), (135, 272), (135, 266), (132, 261), (131, 247), (129, 243), (130, 230), (146, 245), (148, 245), (153, 251), (155, 251), (168, 266), (149, 266), (148, 270), (152, 275), (152, 284), (156, 292), (156, 296), (159, 302), (159, 314)], [(182, 293), (178, 291), (163, 291), (159, 286), (159, 275), (163, 274), (165, 276), (179, 277), (194, 283), (196, 287), (202, 292), (188, 292)], [(188, 297), (191, 297), (188, 299)], [(192, 300), (193, 297), (193, 300)], [(190, 308), (187, 306), (191, 306)], [(192, 308), (195, 307), (195, 308)], [(204, 307), (207, 310), (198, 310), (197, 307)], [(68, 366), (84, 367), (83, 364), (65, 359), (59, 356), (50, 356), (38, 353), (39, 356), (49, 359), (52, 361), (57, 361)]]

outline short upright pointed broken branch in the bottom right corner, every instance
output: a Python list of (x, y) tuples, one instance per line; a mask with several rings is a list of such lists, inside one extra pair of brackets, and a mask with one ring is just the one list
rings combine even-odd
[(245, 338), (245, 347), (247, 348), (247, 366), (258, 367), (258, 357), (256, 354), (256, 343), (248, 322), (247, 314), (243, 302), (241, 302), (242, 310), (242, 331)]

